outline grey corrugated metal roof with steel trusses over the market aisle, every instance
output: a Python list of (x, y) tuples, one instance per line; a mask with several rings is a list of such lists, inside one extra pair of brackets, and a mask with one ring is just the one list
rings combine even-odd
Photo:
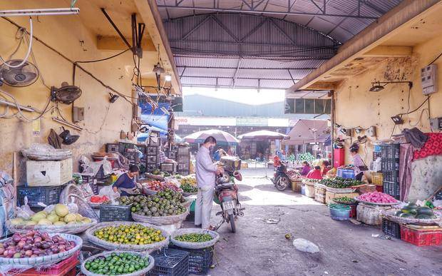
[(157, 0), (183, 86), (237, 88), (292, 86), (400, 2)]

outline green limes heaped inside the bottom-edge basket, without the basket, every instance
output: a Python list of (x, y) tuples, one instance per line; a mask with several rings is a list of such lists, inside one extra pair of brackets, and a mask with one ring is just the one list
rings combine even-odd
[(149, 265), (148, 257), (140, 257), (132, 253), (112, 253), (88, 260), (86, 270), (101, 275), (123, 275), (143, 270)]

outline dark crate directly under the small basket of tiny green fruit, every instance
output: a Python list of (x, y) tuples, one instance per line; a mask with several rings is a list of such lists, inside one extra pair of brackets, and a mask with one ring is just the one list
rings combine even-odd
[(170, 248), (184, 250), (189, 252), (189, 273), (196, 275), (207, 275), (210, 270), (210, 265), (213, 262), (213, 247), (206, 247), (202, 249), (187, 249), (172, 245)]

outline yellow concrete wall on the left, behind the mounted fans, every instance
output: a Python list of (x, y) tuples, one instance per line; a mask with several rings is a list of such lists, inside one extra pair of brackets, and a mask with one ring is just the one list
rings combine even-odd
[[(17, 2), (19, 1), (3, 3), (1, 8), (19, 8)], [(49, 4), (49, 1), (44, 2)], [(42, 4), (42, 6), (44, 5)], [(12, 19), (29, 28), (29, 22), (25, 16)], [(0, 18), (0, 55), (3, 58), (8, 58), (17, 45), (16, 31), (15, 26)], [(74, 61), (104, 58), (117, 53), (115, 51), (98, 51), (95, 34), (91, 34), (83, 26), (78, 16), (40, 16), (38, 19), (34, 17), (34, 34)], [(81, 43), (81, 41), (84, 42)], [(14, 58), (23, 58), (26, 49), (27, 45), (22, 45)], [(62, 81), (72, 83), (73, 66), (71, 63), (37, 41), (34, 41), (33, 51), (41, 76), (43, 76), (48, 86), (59, 87)], [(133, 63), (132, 56), (130, 52), (127, 52), (110, 61), (88, 63), (83, 64), (83, 66), (108, 86), (130, 96), (132, 93), (130, 78), (133, 68), (130, 66), (131, 63)], [(84, 128), (83, 131), (70, 129), (71, 133), (79, 134), (80, 139), (73, 145), (65, 146), (65, 148), (73, 151), (74, 160), (78, 160), (82, 154), (89, 155), (100, 150), (104, 143), (119, 140), (120, 131), (130, 131), (132, 117), (130, 103), (124, 101), (123, 98), (119, 98), (118, 101), (110, 104), (108, 101), (109, 91), (78, 69), (76, 71), (76, 85), (83, 90), (83, 94), (81, 98), (75, 101), (75, 106), (85, 108), (85, 121), (78, 123), (79, 126)], [(6, 85), (0, 88), (14, 95), (22, 105), (31, 105), (41, 109), (43, 109), (50, 94), (48, 88), (43, 86), (41, 78), (32, 86), (25, 88), (12, 88)], [(52, 106), (52, 103), (50, 106)], [(70, 121), (71, 106), (60, 103), (59, 107), (63, 116)], [(0, 106), (0, 114), (3, 111), (4, 107)], [(47, 113), (41, 118), (40, 136), (33, 136), (31, 123), (20, 121), (17, 118), (0, 118), (0, 170), (11, 172), (11, 160), (14, 151), (29, 147), (31, 143), (47, 143), (47, 136), (51, 128), (56, 130), (57, 133), (61, 132), (61, 125), (51, 120), (53, 114), (55, 113)], [(37, 115), (36, 113), (26, 113), (26, 116), (31, 118)], [(24, 168), (22, 159), (21, 166)], [(77, 166), (74, 167), (74, 171), (78, 171)]]

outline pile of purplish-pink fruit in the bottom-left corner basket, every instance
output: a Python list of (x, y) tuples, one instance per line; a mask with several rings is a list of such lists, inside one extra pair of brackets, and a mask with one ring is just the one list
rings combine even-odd
[(75, 242), (65, 240), (59, 235), (51, 237), (47, 232), (31, 230), (26, 234), (15, 233), (0, 242), (0, 257), (40, 257), (65, 252), (75, 246)]

